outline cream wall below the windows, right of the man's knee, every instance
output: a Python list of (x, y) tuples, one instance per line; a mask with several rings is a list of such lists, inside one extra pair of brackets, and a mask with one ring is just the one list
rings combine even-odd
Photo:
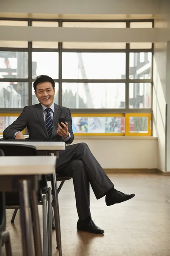
[(149, 137), (78, 138), (86, 143), (104, 169), (157, 168), (157, 139)]

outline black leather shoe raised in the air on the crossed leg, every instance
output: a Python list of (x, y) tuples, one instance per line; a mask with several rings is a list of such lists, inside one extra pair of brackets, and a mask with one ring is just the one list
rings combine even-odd
[(125, 202), (131, 198), (133, 198), (135, 194), (124, 194), (117, 190), (117, 192), (114, 195), (106, 195), (105, 202), (107, 206), (113, 205), (113, 204), (119, 204), (122, 202)]

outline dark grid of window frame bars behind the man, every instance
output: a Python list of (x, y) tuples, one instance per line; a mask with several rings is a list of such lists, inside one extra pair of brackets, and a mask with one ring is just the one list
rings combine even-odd
[[(66, 19), (26, 19), (26, 18), (0, 18), (0, 20), (23, 20), (28, 22), (28, 26), (32, 25), (32, 21), (51, 21), (58, 22), (59, 27), (62, 27), (62, 22), (125, 22), (126, 28), (130, 28), (130, 23), (132, 22), (152, 22), (152, 27), (154, 27), (153, 19), (145, 20), (66, 20)], [(62, 106), (62, 83), (67, 82), (83, 82), (83, 83), (125, 83), (125, 108), (120, 109), (70, 109), (71, 113), (114, 113), (114, 114), (126, 114), (126, 113), (152, 113), (152, 96), (153, 96), (153, 54), (154, 45), (152, 43), (151, 49), (130, 49), (130, 43), (126, 43), (125, 49), (63, 49), (62, 43), (58, 43), (58, 48), (47, 49), (47, 48), (32, 48), (32, 42), (28, 42), (28, 48), (11, 48), (11, 47), (0, 47), (0, 51), (18, 51), (18, 52), (28, 52), (28, 79), (0, 79), (6, 82), (28, 82), (28, 105), (32, 105), (32, 52), (58, 52), (59, 53), (59, 78), (54, 79), (56, 83), (59, 84), (59, 105)], [(126, 73), (125, 79), (62, 79), (62, 52), (125, 52), (126, 54)], [(150, 79), (129, 79), (129, 58), (130, 52), (151, 52), (152, 53), (152, 64), (151, 64), (151, 78)], [(129, 84), (130, 83), (151, 83), (151, 108), (129, 108)], [(0, 108), (0, 113), (20, 113), (22, 108)], [(139, 136), (139, 135), (138, 135)], [(144, 135), (145, 136), (145, 135)]]

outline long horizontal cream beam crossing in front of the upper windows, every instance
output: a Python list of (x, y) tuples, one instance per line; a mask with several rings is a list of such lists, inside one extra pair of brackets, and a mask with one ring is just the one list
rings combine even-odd
[(0, 26), (0, 40), (57, 42), (167, 42), (170, 29)]

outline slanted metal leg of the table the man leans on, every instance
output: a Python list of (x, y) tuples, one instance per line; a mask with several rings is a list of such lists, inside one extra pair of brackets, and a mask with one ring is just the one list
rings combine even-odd
[(57, 181), (56, 181), (56, 173), (51, 175), (51, 186), (53, 193), (53, 208), (54, 208), (54, 219), (56, 226), (56, 241), (59, 250), (59, 256), (62, 256), (62, 247), (61, 247), (61, 230), (60, 230), (60, 221), (59, 221), (59, 205), (58, 205), (58, 194), (57, 194)]

